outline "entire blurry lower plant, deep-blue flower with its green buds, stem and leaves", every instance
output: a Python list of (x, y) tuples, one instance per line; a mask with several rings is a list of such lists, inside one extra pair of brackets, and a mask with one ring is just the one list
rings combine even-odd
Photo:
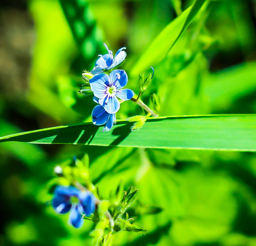
[(91, 182), (89, 156), (85, 154), (81, 160), (76, 157), (73, 159), (75, 163), (67, 165), (64, 162), (54, 168), (58, 178), (51, 180), (48, 185), (49, 192), (52, 193), (52, 185), (56, 184), (51, 200), (54, 211), (58, 214), (69, 212), (68, 224), (75, 228), (82, 227), (86, 222), (88, 226), (94, 223), (89, 233), (91, 245), (94, 246), (110, 246), (112, 234), (118, 231), (145, 234), (147, 230), (135, 223), (135, 219), (129, 216), (128, 208), (137, 203), (146, 214), (161, 212), (161, 208), (144, 206), (136, 201), (139, 191), (133, 187), (124, 190), (122, 181), (117, 185), (116, 191), (105, 194), (102, 200), (100, 189)]

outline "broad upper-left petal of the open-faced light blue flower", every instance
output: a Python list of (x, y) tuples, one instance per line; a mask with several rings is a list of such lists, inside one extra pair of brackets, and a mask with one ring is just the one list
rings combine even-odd
[(94, 96), (98, 98), (106, 96), (107, 87), (109, 86), (109, 76), (107, 74), (96, 74), (89, 82)]

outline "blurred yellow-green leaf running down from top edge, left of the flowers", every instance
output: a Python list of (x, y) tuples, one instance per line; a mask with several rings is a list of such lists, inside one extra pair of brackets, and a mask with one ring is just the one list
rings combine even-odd
[[(29, 2), (37, 31), (27, 100), (58, 122), (75, 122), (78, 114), (54, 91), (56, 77), (67, 74), (77, 52), (72, 33), (57, 0)], [(49, 11), (50, 10), (50, 11)]]

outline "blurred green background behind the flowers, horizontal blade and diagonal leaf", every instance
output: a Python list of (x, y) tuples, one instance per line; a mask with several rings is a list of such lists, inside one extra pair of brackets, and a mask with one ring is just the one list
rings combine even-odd
[[(136, 93), (133, 64), (192, 3), (1, 1), (0, 135), (90, 121), (95, 103), (77, 92), (104, 42), (114, 53), (127, 47), (124, 69)], [(161, 116), (256, 113), (255, 13), (255, 0), (210, 1), (155, 66), (143, 101), (156, 93)], [(127, 102), (117, 118), (142, 113)], [(113, 245), (256, 245), (254, 153), (25, 143), (0, 144), (0, 245), (89, 244), (93, 224), (68, 226), (48, 194), (54, 166), (85, 152), (103, 197), (122, 179), (140, 190), (140, 203), (163, 209), (135, 217), (146, 235), (118, 232)]]

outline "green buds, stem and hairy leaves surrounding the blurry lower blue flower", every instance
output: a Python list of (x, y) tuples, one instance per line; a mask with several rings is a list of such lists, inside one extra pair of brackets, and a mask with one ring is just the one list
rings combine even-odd
[(83, 216), (84, 219), (94, 222), (95, 228), (90, 232), (90, 237), (93, 238), (91, 245), (101, 246), (110, 245), (112, 233), (120, 230), (143, 232), (143, 227), (135, 224), (133, 218), (129, 218), (127, 209), (138, 197), (139, 191), (128, 188), (127, 191), (123, 191), (123, 182), (120, 181), (117, 186), (116, 192), (110, 192), (108, 200), (99, 200), (99, 189), (96, 189), (94, 184), (90, 181), (89, 172), (89, 157), (84, 155), (80, 161), (75, 158), (75, 166), (64, 164), (55, 168), (55, 173), (59, 178), (54, 178), (48, 187), (49, 192), (52, 193), (52, 184), (56, 185), (72, 185), (78, 189), (84, 191), (91, 191), (96, 197), (96, 209), (90, 217)]

